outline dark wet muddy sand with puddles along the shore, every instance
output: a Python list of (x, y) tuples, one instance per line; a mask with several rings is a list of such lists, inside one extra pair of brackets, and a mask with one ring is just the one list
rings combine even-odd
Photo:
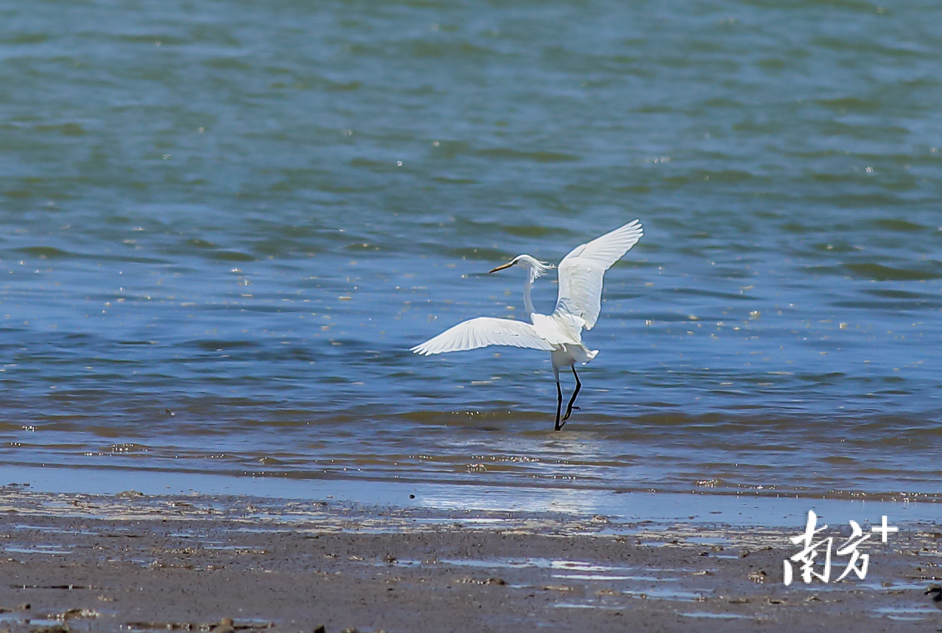
[(0, 631), (209, 630), (223, 618), (328, 633), (942, 625), (923, 595), (942, 576), (942, 527), (905, 525), (869, 547), (866, 580), (810, 589), (782, 584), (797, 531), (5, 488)]

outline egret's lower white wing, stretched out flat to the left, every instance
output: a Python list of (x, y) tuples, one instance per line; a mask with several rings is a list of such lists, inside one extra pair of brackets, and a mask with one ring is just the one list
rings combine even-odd
[(478, 317), (459, 323), (440, 333), (412, 351), (417, 354), (441, 354), (444, 351), (486, 348), (489, 345), (511, 345), (514, 348), (555, 349), (536, 333), (529, 323), (509, 318)]

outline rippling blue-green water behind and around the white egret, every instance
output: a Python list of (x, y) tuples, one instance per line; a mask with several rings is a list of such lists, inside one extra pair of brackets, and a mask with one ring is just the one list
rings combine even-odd
[[(938, 492), (938, 5), (0, 16), (2, 463)], [(544, 352), (409, 353), (635, 218), (565, 432)]]

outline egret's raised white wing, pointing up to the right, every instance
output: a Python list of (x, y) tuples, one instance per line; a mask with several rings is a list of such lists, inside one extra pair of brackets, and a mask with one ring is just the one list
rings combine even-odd
[(592, 330), (602, 309), (602, 278), (611, 265), (622, 258), (643, 235), (637, 219), (611, 233), (577, 246), (560, 262), (560, 294), (556, 312), (585, 321)]

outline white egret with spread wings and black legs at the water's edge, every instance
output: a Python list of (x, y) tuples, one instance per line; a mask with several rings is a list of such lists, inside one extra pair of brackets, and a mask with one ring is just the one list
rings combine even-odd
[[(637, 219), (625, 226), (596, 237), (587, 244), (577, 246), (562, 258), (559, 266), (560, 289), (556, 309), (551, 315), (539, 315), (530, 300), (530, 286), (546, 273), (552, 264), (546, 264), (529, 255), (517, 255), (508, 264), (491, 270), (496, 272), (512, 266), (527, 271), (524, 282), (524, 305), (530, 322), (510, 318), (478, 317), (459, 323), (440, 333), (412, 351), (429, 356), (446, 351), (486, 348), (489, 345), (509, 345), (515, 348), (544, 349), (550, 353), (553, 376), (556, 378), (556, 427), (562, 429), (573, 413), (573, 403), (582, 388), (576, 373), (576, 364), (587, 364), (598, 353), (582, 343), (582, 330), (592, 330), (602, 308), (602, 278), (605, 271), (638, 243), (643, 235), (642, 224)], [(560, 367), (572, 367), (576, 378), (576, 389), (561, 419), (562, 389)]]

